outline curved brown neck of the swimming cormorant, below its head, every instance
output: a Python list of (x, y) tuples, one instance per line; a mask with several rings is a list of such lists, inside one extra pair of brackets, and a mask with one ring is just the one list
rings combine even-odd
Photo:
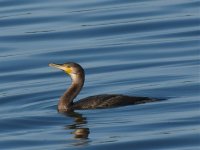
[(84, 76), (80, 74), (74, 74), (71, 76), (72, 83), (70, 87), (65, 91), (58, 103), (58, 111), (70, 111), (73, 106), (73, 100), (81, 91), (84, 84)]

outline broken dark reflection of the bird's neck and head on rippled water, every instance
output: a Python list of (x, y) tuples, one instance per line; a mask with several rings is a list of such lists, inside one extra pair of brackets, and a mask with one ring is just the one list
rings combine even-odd
[(90, 130), (89, 128), (85, 128), (84, 125), (87, 124), (86, 117), (83, 117), (82, 114), (77, 112), (66, 112), (63, 113), (65, 116), (74, 118), (74, 123), (71, 125), (66, 125), (65, 129), (73, 129), (74, 131), (71, 132), (74, 134), (74, 138), (76, 139), (88, 139)]

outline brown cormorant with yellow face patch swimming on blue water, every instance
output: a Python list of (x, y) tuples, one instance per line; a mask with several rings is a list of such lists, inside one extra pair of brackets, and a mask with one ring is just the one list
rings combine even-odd
[(112, 108), (126, 105), (154, 102), (158, 99), (149, 97), (128, 96), (123, 94), (101, 94), (83, 98), (74, 102), (73, 100), (81, 91), (85, 81), (85, 71), (81, 65), (75, 62), (63, 64), (50, 63), (49, 66), (64, 71), (71, 77), (71, 85), (61, 96), (57, 110), (58, 112), (72, 112), (74, 110)]

